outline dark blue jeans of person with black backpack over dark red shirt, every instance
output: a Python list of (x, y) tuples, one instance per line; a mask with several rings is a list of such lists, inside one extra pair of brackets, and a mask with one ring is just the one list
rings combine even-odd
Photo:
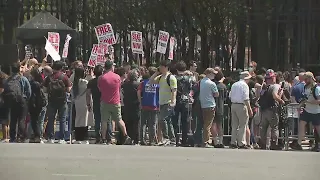
[(54, 139), (54, 120), (56, 119), (56, 114), (58, 112), (57, 121), (59, 121), (59, 139), (65, 140), (65, 125), (67, 119), (67, 111), (68, 105), (67, 103), (62, 106), (56, 107), (51, 104), (48, 105), (48, 138)]

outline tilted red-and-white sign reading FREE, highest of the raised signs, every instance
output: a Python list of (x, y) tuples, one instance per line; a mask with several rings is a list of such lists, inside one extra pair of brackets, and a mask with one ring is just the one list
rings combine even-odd
[(101, 24), (94, 27), (99, 43), (107, 43), (108, 45), (116, 44), (116, 37), (110, 23)]

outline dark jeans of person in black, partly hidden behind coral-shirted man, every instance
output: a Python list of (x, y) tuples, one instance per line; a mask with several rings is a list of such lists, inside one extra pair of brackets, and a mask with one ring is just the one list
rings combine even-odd
[[(94, 129), (95, 129), (95, 133), (96, 133), (96, 139), (100, 140), (101, 134), (100, 134), (100, 130), (101, 130), (101, 112), (100, 112), (100, 102), (97, 104), (93, 104), (93, 115), (94, 115), (94, 121), (95, 121), (95, 125), (94, 125)], [(111, 141), (111, 137), (112, 137), (112, 121), (108, 121), (107, 123), (107, 141)]]

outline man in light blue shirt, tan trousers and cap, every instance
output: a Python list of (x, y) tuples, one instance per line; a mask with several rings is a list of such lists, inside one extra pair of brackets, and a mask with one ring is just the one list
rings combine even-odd
[(202, 110), (202, 117), (203, 117), (203, 146), (204, 147), (211, 147), (209, 140), (210, 140), (210, 131), (212, 127), (212, 122), (215, 115), (215, 108), (216, 108), (216, 101), (215, 97), (219, 97), (219, 91), (217, 88), (216, 83), (211, 81), (214, 79), (214, 75), (217, 73), (213, 68), (207, 68), (204, 71), (206, 75), (200, 81), (200, 105)]

